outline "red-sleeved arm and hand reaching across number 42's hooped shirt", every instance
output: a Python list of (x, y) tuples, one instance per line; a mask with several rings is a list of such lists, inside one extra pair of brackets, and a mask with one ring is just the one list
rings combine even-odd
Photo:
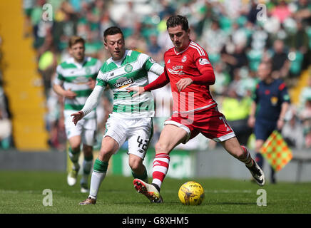
[(170, 78), (168, 78), (168, 74), (166, 73), (166, 68), (164, 68), (164, 72), (161, 73), (160, 76), (158, 76), (155, 81), (148, 84), (147, 86), (136, 86), (136, 87), (130, 87), (127, 88), (128, 92), (135, 91), (137, 93), (133, 94), (133, 97), (136, 95), (141, 95), (141, 93), (144, 93), (145, 91), (151, 91), (156, 90), (157, 88), (162, 88), (163, 86), (167, 85), (170, 82)]

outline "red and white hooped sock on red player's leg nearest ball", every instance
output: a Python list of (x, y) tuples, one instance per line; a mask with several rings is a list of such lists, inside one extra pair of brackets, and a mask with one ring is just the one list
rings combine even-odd
[(153, 160), (153, 184), (161, 187), (162, 182), (168, 172), (168, 165), (170, 163), (170, 155), (165, 153), (156, 154)]

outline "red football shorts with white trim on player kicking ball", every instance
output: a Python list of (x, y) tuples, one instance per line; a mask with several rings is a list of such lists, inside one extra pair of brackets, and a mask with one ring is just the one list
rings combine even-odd
[(188, 140), (202, 133), (206, 138), (216, 142), (223, 142), (235, 137), (233, 129), (228, 125), (223, 113), (215, 108), (198, 110), (190, 113), (173, 113), (172, 117), (165, 120), (164, 125), (176, 125), (187, 132)]

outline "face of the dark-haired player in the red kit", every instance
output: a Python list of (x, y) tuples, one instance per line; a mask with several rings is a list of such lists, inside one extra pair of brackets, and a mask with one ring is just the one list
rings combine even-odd
[(180, 52), (188, 47), (190, 42), (190, 28), (188, 31), (185, 31), (181, 26), (170, 27), (168, 28), (168, 35), (176, 51)]

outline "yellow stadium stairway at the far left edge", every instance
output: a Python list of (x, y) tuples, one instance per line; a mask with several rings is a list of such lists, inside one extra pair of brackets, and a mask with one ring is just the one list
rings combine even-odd
[(1, 71), (12, 115), (14, 146), (21, 151), (48, 150), (44, 87), (37, 73), (36, 51), (31, 47), (33, 37), (23, 36), (21, 10), (21, 1), (1, 1)]

